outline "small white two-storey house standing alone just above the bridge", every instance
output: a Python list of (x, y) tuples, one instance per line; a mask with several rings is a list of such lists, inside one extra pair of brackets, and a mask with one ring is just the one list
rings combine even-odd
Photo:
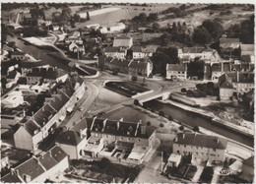
[(166, 79), (171, 80), (187, 80), (187, 69), (182, 64), (167, 64)]

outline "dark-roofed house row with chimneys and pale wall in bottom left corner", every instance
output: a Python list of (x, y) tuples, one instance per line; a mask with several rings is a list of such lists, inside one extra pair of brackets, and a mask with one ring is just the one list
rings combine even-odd
[(68, 155), (55, 146), (47, 153), (35, 156), (11, 168), (11, 171), (1, 178), (3, 183), (43, 183), (54, 178), (69, 167)]

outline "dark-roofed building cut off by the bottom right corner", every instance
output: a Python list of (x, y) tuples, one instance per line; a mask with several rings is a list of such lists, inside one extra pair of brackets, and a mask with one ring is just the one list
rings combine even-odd
[(254, 156), (250, 156), (243, 161), (242, 172), (239, 177), (249, 183), (254, 183)]

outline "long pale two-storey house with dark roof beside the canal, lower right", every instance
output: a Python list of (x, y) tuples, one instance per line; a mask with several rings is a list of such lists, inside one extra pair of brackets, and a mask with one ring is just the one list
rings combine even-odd
[(173, 153), (192, 155), (197, 161), (223, 161), (227, 141), (217, 136), (195, 133), (180, 133), (173, 143)]

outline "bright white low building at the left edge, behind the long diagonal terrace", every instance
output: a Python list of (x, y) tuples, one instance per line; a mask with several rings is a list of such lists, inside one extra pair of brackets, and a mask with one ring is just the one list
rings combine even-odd
[(9, 92), (1, 98), (1, 105), (4, 108), (16, 108), (24, 103), (24, 96), (21, 91)]

